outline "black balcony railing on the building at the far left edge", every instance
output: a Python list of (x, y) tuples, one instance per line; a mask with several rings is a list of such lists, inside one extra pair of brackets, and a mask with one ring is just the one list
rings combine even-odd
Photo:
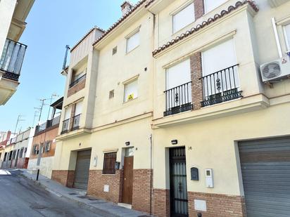
[(18, 81), (27, 46), (11, 39), (6, 39), (0, 59), (0, 70), (3, 77)]

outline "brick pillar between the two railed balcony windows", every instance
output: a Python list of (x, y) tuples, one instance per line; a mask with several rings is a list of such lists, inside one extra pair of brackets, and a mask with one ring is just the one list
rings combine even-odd
[(201, 63), (201, 52), (194, 53), (190, 57), (190, 68), (191, 68), (191, 96), (194, 110), (201, 108), (201, 101), (203, 100), (203, 86), (202, 86), (202, 63)]

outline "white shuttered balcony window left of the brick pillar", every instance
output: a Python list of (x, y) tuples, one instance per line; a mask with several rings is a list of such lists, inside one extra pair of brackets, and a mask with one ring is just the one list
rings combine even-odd
[(166, 70), (167, 107), (191, 103), (190, 60), (184, 60)]

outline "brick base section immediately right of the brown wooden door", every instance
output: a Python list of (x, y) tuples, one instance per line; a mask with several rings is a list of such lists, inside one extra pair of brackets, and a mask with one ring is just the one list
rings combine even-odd
[(150, 213), (150, 180), (150, 169), (134, 169), (132, 209)]

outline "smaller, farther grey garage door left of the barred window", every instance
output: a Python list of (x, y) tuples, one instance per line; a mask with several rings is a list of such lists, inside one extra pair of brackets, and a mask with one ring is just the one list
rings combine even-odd
[(87, 190), (90, 160), (91, 150), (77, 152), (77, 164), (75, 166), (75, 182), (73, 184), (73, 188)]

